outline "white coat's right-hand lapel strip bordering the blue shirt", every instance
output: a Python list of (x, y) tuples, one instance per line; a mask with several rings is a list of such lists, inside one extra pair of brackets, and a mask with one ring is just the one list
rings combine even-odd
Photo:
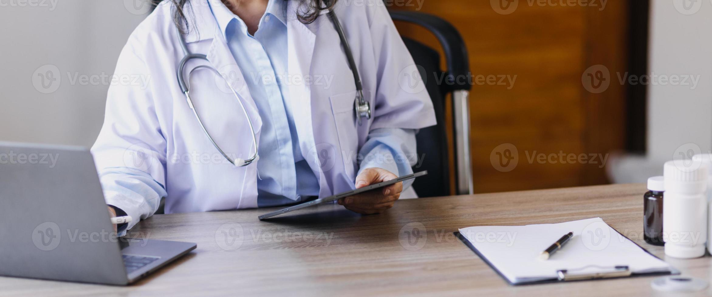
[[(318, 153), (320, 146), (314, 141), (314, 129), (312, 123), (312, 92), (311, 85), (305, 78), (311, 75), (311, 65), (316, 42), (315, 32), (318, 30), (317, 21), (305, 24), (294, 16), (298, 13), (299, 1), (288, 1), (287, 6), (287, 46), (288, 46), (288, 72), (293, 80), (300, 80), (300, 83), (289, 85), (289, 95), (287, 104), (294, 111), (295, 126), (300, 135), (299, 144), (302, 155), (309, 163), (309, 166), (319, 178), (320, 197), (330, 195), (331, 190), (324, 172), (320, 170)], [(315, 169), (316, 168), (316, 169)]]

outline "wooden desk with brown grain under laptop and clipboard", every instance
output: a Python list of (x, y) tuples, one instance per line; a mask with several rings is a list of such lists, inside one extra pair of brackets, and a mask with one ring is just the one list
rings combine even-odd
[[(509, 286), (452, 232), (474, 225), (525, 225), (602, 217), (683, 274), (710, 279), (710, 257), (664, 257), (643, 242), (644, 185), (603, 185), (449, 198), (402, 200), (381, 215), (323, 205), (260, 222), (267, 210), (155, 215), (134, 236), (197, 242), (198, 248), (127, 287), (0, 277), (0, 295), (477, 295), (651, 296), (654, 277)], [(422, 248), (404, 226), (426, 228)], [(222, 231), (242, 228), (239, 249)], [(216, 236), (216, 233), (218, 234)], [(238, 232), (239, 233), (239, 232)], [(227, 237), (228, 239), (234, 239)], [(239, 238), (239, 237), (238, 237)], [(399, 240), (402, 239), (402, 240)], [(278, 242), (276, 242), (278, 241)], [(401, 244), (403, 242), (404, 244)], [(221, 247), (222, 246), (222, 247)], [(226, 247), (224, 249), (223, 247)], [(405, 247), (409, 247), (406, 249)], [(698, 295), (712, 295), (712, 288)]]

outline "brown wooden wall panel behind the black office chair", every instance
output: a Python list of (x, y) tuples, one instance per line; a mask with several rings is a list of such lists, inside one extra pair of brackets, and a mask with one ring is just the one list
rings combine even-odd
[[(476, 193), (607, 182), (600, 163), (538, 163), (528, 156), (605, 154), (623, 147), (624, 87), (612, 83), (595, 95), (582, 85), (591, 65), (607, 65), (614, 81), (614, 72), (624, 69), (628, 4), (612, 2), (600, 11), (519, 1), (515, 12), (503, 15), (490, 1), (424, 1), (420, 11), (445, 18), (461, 32), (473, 75), (516, 77), (511, 86), (474, 85), (471, 91)], [(397, 26), (404, 36), (439, 48), (423, 28)], [(500, 144), (518, 150), (511, 171), (491, 164), (491, 153)]]

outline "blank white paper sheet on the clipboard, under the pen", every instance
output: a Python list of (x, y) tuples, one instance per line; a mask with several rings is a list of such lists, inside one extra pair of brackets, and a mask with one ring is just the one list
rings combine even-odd
[[(548, 260), (539, 259), (547, 247), (568, 232), (574, 236)], [(629, 266), (633, 273), (669, 271), (665, 261), (648, 254), (609, 227), (600, 217), (526, 226), (482, 226), (460, 233), (511, 283), (556, 279), (560, 269), (609, 271)]]

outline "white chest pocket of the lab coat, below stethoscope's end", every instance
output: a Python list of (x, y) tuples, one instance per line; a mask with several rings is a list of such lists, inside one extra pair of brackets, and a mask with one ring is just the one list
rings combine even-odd
[(337, 150), (337, 153), (340, 153), (340, 157), (344, 162), (345, 173), (350, 180), (356, 179), (358, 167), (356, 158), (358, 153), (358, 131), (356, 129), (356, 114), (354, 113), (355, 98), (355, 90), (329, 97), (339, 139), (340, 149)]

